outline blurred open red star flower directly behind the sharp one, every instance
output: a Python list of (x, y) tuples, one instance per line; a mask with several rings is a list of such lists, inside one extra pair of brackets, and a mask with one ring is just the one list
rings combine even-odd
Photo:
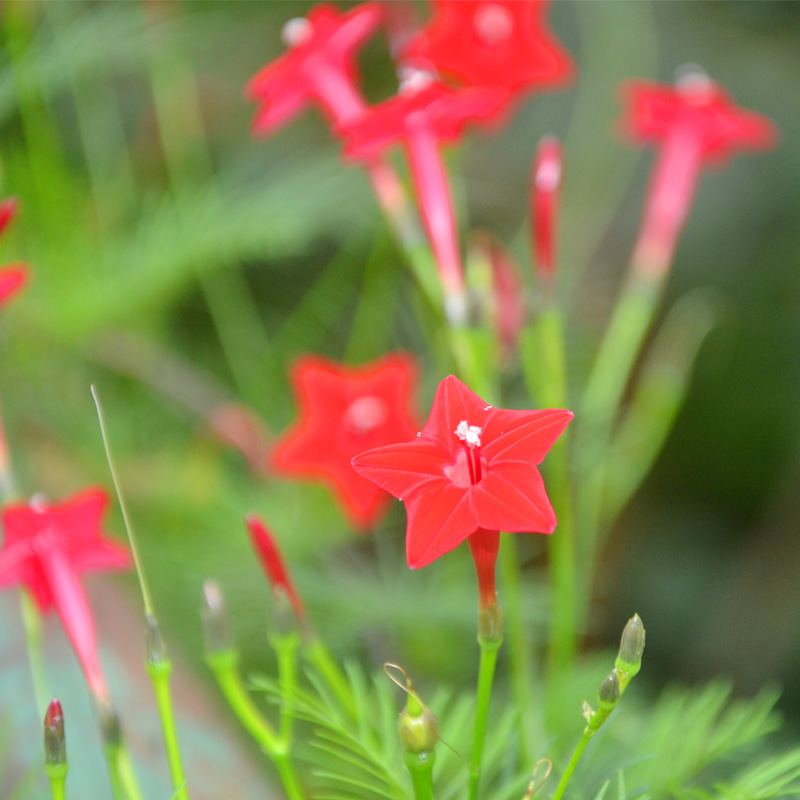
[(409, 413), (416, 369), (395, 353), (362, 367), (346, 367), (318, 356), (293, 368), (299, 404), (295, 425), (276, 443), (275, 466), (289, 474), (319, 478), (336, 494), (353, 525), (370, 527), (388, 497), (350, 465), (364, 450), (414, 437)]

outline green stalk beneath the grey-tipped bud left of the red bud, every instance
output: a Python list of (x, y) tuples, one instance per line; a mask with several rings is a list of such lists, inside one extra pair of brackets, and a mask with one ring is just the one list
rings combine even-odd
[(256, 708), (236, 669), (237, 661), (238, 657), (234, 650), (206, 654), (206, 663), (214, 673), (225, 700), (244, 729), (275, 765), (289, 800), (305, 800), (303, 789), (289, 757), (289, 750), (279, 740), (272, 725)]

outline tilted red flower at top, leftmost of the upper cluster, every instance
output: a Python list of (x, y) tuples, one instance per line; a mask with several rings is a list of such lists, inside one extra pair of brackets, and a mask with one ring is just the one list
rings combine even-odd
[(364, 3), (346, 14), (318, 5), (307, 18), (292, 20), (284, 28), (289, 52), (247, 85), (247, 95), (261, 103), (254, 132), (270, 133), (310, 100), (319, 102), (337, 126), (359, 115), (365, 103), (355, 88), (354, 52), (380, 19), (380, 6)]

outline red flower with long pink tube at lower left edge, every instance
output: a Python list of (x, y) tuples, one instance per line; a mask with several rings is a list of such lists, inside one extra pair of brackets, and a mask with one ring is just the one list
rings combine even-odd
[(103, 699), (107, 690), (80, 576), (130, 567), (128, 552), (101, 533), (107, 502), (103, 490), (86, 489), (52, 506), (35, 500), (6, 506), (0, 548), (0, 586), (23, 584), (42, 611), (56, 610), (89, 687)]

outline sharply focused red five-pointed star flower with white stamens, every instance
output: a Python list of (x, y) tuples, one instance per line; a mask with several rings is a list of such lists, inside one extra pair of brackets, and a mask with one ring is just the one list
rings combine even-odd
[(536, 466), (572, 416), (494, 408), (450, 375), (413, 441), (362, 453), (353, 466), (405, 503), (406, 555), (416, 569), (477, 531), (552, 533), (556, 517)]

